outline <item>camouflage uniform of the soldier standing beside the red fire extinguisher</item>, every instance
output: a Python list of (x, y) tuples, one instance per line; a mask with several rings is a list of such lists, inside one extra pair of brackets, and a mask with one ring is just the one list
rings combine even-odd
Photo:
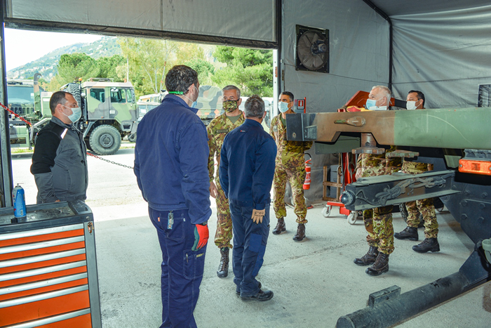
[(285, 187), (290, 181), (292, 200), (295, 204), (297, 223), (307, 223), (307, 206), (305, 206), (303, 184), (305, 181), (304, 151), (312, 147), (311, 141), (287, 141), (286, 126), (281, 122), (281, 114), (271, 120), (269, 133), (273, 137), (278, 152), (276, 152), (276, 167), (274, 169), (274, 213), (276, 218), (286, 216)]

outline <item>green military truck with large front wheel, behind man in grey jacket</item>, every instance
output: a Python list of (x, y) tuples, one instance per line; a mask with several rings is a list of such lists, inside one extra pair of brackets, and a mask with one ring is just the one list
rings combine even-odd
[(112, 155), (121, 139), (136, 133), (138, 107), (135, 89), (130, 82), (90, 78), (62, 86), (74, 95), (82, 110), (76, 127), (83, 132), (89, 150), (97, 155)]

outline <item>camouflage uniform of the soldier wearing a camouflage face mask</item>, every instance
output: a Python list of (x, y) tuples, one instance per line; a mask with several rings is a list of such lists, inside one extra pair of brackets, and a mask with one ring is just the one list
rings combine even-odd
[[(210, 147), (210, 155), (208, 156), (210, 182), (213, 181), (213, 176), (215, 175), (214, 157), (217, 159), (217, 166), (220, 166), (220, 151), (222, 150), (225, 136), (236, 127), (242, 125), (244, 121), (243, 114), (235, 123), (232, 123), (227, 118), (227, 115), (223, 113), (219, 117), (215, 117), (206, 128), (208, 132), (208, 147)], [(232, 239), (232, 220), (229, 203), (220, 185), (218, 174), (215, 178), (215, 185), (217, 185), (217, 197), (215, 199), (217, 202), (217, 232), (215, 233), (215, 245), (220, 249), (224, 247), (232, 248), (230, 243)]]

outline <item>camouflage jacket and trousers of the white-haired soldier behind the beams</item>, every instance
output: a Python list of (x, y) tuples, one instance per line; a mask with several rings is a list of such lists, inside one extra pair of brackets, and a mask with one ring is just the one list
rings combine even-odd
[[(361, 166), (362, 178), (368, 176), (384, 176), (398, 171), (401, 168), (402, 159), (399, 157), (386, 157), (388, 152), (396, 148), (391, 146), (383, 155), (363, 154), (358, 157), (358, 166)], [(365, 209), (363, 222), (368, 232), (367, 242), (372, 247), (377, 247), (384, 254), (394, 251), (394, 228), (392, 226), (392, 205)]]

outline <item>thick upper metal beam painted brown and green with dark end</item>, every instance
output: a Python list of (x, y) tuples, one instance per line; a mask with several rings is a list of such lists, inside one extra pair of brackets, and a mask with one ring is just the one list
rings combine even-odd
[(487, 107), (321, 112), (287, 115), (286, 129), (294, 141), (332, 143), (358, 132), (372, 133), (380, 145), (491, 150), (490, 119)]

